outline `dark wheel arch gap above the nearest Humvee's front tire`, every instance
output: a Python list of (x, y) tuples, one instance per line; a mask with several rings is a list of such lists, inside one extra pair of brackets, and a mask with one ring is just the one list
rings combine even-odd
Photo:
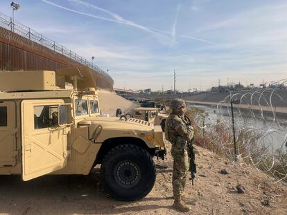
[(155, 156), (155, 148), (149, 148), (146, 145), (146, 142), (144, 142), (140, 138), (132, 138), (132, 137), (110, 138), (102, 143), (101, 149), (98, 151), (98, 154), (96, 155), (94, 166), (97, 164), (101, 164), (107, 152), (110, 151), (112, 148), (119, 146), (120, 144), (127, 144), (127, 143), (135, 144), (141, 147), (142, 149), (148, 151), (148, 153), (150, 153), (150, 156), (152, 157)]

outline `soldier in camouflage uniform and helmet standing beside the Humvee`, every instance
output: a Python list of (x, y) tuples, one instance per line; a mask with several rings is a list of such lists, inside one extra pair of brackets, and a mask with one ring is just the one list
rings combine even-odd
[(184, 100), (171, 100), (172, 113), (166, 119), (166, 140), (172, 144), (173, 156), (173, 207), (182, 212), (188, 212), (190, 207), (182, 202), (181, 196), (186, 184), (186, 176), (189, 171), (189, 156), (186, 144), (193, 138), (193, 127), (188, 125), (184, 116), (186, 104)]

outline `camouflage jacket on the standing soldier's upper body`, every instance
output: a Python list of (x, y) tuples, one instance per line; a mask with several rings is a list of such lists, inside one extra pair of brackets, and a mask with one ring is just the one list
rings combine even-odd
[(176, 113), (171, 113), (166, 119), (165, 135), (166, 140), (170, 142), (177, 142), (177, 138), (189, 142), (193, 138), (193, 127), (187, 125), (188, 121), (184, 118), (184, 115), (177, 115)]

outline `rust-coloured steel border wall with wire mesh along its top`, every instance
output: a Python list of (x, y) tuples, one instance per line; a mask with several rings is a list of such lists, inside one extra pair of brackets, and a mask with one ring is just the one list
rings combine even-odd
[(0, 69), (55, 70), (76, 66), (89, 66), (100, 88), (113, 88), (114, 80), (105, 71), (56, 44), (10, 17), (0, 13)]

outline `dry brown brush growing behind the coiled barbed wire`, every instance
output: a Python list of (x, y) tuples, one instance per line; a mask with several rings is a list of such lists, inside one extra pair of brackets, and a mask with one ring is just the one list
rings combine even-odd
[[(234, 140), (232, 127), (228, 124), (218, 121), (214, 126), (205, 129), (204, 120), (207, 113), (202, 109), (191, 108), (186, 113), (193, 121), (195, 129), (195, 144), (209, 149), (220, 156), (228, 159), (236, 158), (234, 152)], [(287, 182), (287, 151), (283, 147), (271, 153), (266, 147), (259, 146), (258, 140), (261, 135), (256, 131), (246, 131), (241, 129), (236, 133), (237, 153), (245, 165), (265, 171), (275, 180)]]

